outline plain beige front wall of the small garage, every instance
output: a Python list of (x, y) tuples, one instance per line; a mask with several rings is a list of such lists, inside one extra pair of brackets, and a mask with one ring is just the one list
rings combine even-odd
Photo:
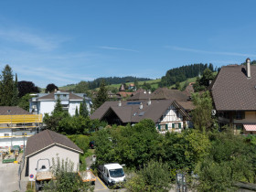
[[(29, 165), (28, 165), (28, 176), (30, 174), (33, 174), (34, 176), (36, 175), (37, 171), (37, 161), (39, 159), (45, 159), (48, 158), (50, 165), (53, 165), (52, 158), (55, 159), (55, 163), (57, 163), (57, 156), (59, 156), (60, 162), (62, 162), (62, 159), (66, 161), (71, 161), (74, 164), (73, 171), (77, 171), (79, 168), (79, 163), (80, 163), (80, 154), (78, 152), (69, 150), (67, 148), (64, 148), (59, 145), (53, 145), (36, 155), (32, 155), (29, 157)], [(40, 168), (42, 165), (45, 165), (48, 168), (48, 161), (39, 161), (38, 167)]]

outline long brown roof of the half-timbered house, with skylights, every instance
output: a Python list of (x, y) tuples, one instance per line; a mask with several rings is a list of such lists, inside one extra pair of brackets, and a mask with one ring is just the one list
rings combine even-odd
[[(122, 106), (118, 106), (119, 101), (106, 101), (99, 109), (91, 114), (91, 119), (102, 120), (109, 112), (114, 112), (123, 123), (138, 123), (143, 119), (151, 119), (155, 123), (161, 118), (164, 112), (171, 104), (175, 104), (180, 112), (187, 115), (187, 112), (174, 100), (159, 100), (151, 101), (122, 101)], [(140, 109), (140, 103), (143, 104), (143, 109)]]

